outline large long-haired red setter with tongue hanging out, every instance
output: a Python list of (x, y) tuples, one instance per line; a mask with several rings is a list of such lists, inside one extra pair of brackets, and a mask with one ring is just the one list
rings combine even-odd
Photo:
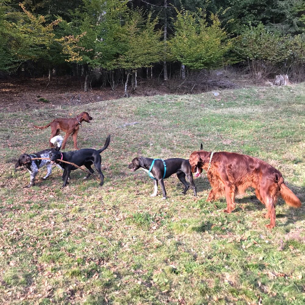
[(235, 208), (235, 194), (243, 193), (246, 188), (255, 188), (257, 198), (266, 206), (270, 217), (267, 228), (275, 226), (275, 204), (281, 196), (289, 206), (301, 206), (301, 201), (285, 185), (282, 174), (267, 162), (235, 152), (192, 152), (189, 162), (195, 177), (206, 170), (212, 189), (208, 202), (226, 196), (226, 213)]

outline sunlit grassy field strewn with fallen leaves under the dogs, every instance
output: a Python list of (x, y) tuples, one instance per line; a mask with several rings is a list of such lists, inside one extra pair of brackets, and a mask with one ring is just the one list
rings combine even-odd
[[(189, 157), (204, 150), (240, 152), (278, 170), (305, 199), (304, 84), (200, 95), (165, 95), (51, 107), (25, 113), (2, 109), (0, 121), (0, 303), (13, 304), (304, 304), (305, 209), (276, 207), (277, 226), (249, 189), (235, 211), (225, 199), (207, 203), (206, 178), (198, 196), (173, 175), (168, 199), (150, 198), (153, 182), (127, 169), (142, 155)], [(85, 173), (61, 171), (29, 183), (14, 171), (23, 153), (48, 147), (56, 117), (88, 111), (80, 148), (101, 148), (103, 187)], [(122, 127), (125, 123), (138, 124)], [(73, 150), (72, 138), (65, 151)]]

